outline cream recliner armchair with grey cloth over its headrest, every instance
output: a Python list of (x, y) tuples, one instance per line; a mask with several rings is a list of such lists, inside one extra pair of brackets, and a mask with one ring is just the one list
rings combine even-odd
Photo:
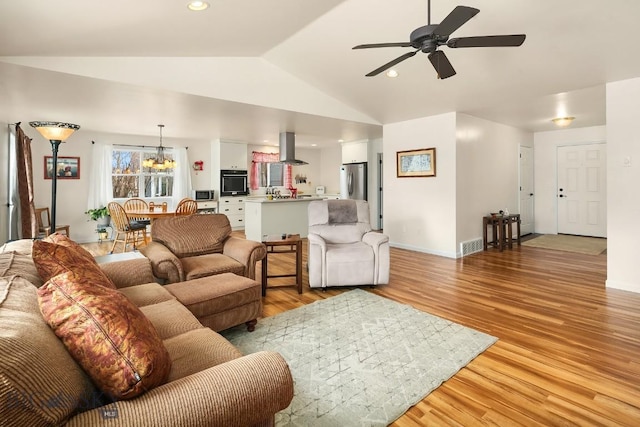
[(309, 203), (309, 286), (389, 283), (389, 237), (371, 231), (365, 200)]

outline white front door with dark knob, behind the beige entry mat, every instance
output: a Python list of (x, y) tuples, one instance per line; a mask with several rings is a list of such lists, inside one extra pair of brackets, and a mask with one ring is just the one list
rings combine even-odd
[(558, 233), (607, 236), (606, 148), (558, 147)]

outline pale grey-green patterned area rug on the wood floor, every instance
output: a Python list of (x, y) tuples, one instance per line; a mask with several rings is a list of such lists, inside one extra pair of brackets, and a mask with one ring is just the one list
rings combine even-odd
[(222, 333), (274, 350), (295, 382), (279, 426), (386, 426), (497, 338), (356, 289)]

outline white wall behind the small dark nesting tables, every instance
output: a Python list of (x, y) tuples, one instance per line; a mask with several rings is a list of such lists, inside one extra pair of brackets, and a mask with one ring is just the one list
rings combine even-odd
[(483, 216), (504, 209), (519, 213), (519, 148), (532, 147), (533, 134), (458, 114), (456, 135), (459, 252), (461, 242), (482, 237)]

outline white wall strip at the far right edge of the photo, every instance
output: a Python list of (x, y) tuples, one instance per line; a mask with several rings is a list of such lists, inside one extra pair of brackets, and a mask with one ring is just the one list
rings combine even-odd
[(640, 292), (639, 111), (640, 79), (607, 84), (607, 287), (633, 292)]

